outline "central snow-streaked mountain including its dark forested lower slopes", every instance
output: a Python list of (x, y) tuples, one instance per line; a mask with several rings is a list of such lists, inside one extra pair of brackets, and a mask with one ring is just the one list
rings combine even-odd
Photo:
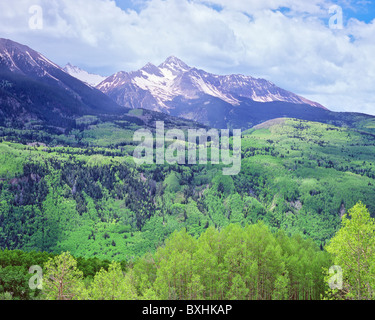
[(173, 56), (159, 66), (148, 63), (138, 71), (118, 72), (97, 88), (122, 106), (160, 111), (215, 128), (249, 129), (287, 117), (370, 132), (366, 122), (374, 120), (365, 114), (332, 112), (264, 79), (210, 74)]

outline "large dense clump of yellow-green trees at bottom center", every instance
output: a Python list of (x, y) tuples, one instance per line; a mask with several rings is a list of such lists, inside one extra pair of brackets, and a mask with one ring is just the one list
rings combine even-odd
[(319, 299), (321, 268), (329, 257), (310, 241), (272, 234), (260, 223), (222, 231), (207, 229), (198, 239), (174, 233), (155, 258), (136, 261), (136, 279), (145, 279), (161, 299)]

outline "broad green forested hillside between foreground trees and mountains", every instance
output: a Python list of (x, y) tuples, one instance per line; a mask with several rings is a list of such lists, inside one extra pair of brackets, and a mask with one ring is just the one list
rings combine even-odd
[(273, 121), (244, 132), (241, 172), (222, 176), (215, 165), (136, 167), (131, 132), (97, 122), (65, 146), (3, 137), (0, 246), (130, 261), (181, 228), (199, 236), (262, 220), (323, 247), (357, 201), (375, 211), (371, 134)]

